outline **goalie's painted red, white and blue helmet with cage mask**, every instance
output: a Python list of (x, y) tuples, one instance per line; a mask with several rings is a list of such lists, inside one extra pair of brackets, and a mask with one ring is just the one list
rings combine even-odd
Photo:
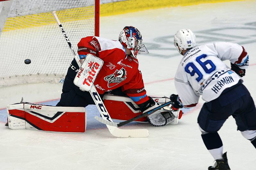
[(140, 31), (133, 26), (125, 26), (120, 32), (118, 41), (132, 52), (134, 58), (140, 54), (147, 54), (148, 50), (142, 44), (142, 36)]

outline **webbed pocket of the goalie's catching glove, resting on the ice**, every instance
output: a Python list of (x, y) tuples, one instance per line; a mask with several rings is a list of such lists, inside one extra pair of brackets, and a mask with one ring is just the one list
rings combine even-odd
[[(148, 122), (153, 126), (165, 126), (173, 122), (176, 117), (172, 114), (171, 110), (160, 109), (148, 115)], [(176, 123), (175, 123), (176, 124)]]

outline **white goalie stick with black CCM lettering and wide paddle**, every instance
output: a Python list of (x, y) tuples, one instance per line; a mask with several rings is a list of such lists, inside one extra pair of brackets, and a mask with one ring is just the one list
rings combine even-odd
[[(63, 33), (67, 43), (68, 43), (68, 46), (70, 48), (70, 50), (72, 51), (75, 59), (76, 59), (76, 62), (78, 64), (79, 67), (81, 67), (81, 63), (80, 63), (80, 58), (78, 57), (78, 55), (76, 55), (76, 52), (74, 51), (69, 39), (68, 39), (68, 36), (66, 34), (66, 32), (64, 31), (61, 23), (60, 23), (60, 20), (59, 18), (57, 17), (56, 15), (56, 11), (53, 11), (52, 12), (56, 22), (58, 23), (59, 27), (60, 27), (60, 30), (61, 32)], [(111, 117), (109, 116), (108, 114), (108, 111), (104, 105), (104, 103), (102, 102), (102, 100), (100, 99), (100, 95), (99, 93), (97, 92), (95, 86), (93, 85), (92, 88), (90, 89), (90, 95), (92, 96), (92, 99), (95, 103), (95, 105), (97, 106), (99, 112), (100, 112), (100, 115), (101, 117), (103, 117), (103, 119), (105, 119), (106, 121), (112, 121)], [(113, 127), (113, 126), (109, 126), (107, 125), (108, 127), (108, 130), (109, 132), (113, 135), (113, 136), (116, 136), (116, 137), (121, 137), (121, 138), (129, 138), (129, 137), (148, 137), (148, 130), (147, 129), (119, 129), (117, 127)]]

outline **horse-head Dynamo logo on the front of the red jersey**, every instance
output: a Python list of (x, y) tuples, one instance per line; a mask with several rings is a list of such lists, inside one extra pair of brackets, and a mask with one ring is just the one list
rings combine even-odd
[(116, 70), (115, 73), (104, 77), (105, 81), (108, 81), (108, 88), (116, 86), (120, 82), (126, 79), (126, 70), (122, 67), (120, 70)]

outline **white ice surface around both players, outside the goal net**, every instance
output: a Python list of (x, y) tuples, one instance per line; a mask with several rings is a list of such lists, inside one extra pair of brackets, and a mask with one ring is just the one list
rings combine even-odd
[[(173, 35), (191, 29), (201, 45), (214, 41), (238, 43), (250, 57), (244, 85), (256, 100), (256, 1), (238, 1), (172, 7), (100, 18), (100, 36), (117, 39), (126, 25), (137, 27), (148, 48), (138, 57), (148, 96), (176, 93), (173, 78), (181, 59)], [(63, 24), (65, 27), (65, 25)], [(82, 38), (82, 37), (81, 37)], [(74, 45), (75, 46), (75, 45)], [(229, 62), (227, 62), (229, 65)], [(116, 138), (94, 105), (87, 109), (85, 133), (66, 134), (5, 127), (7, 104), (26, 102), (55, 105), (61, 84), (17, 85), (0, 89), (1, 170), (206, 170), (213, 158), (204, 146), (197, 125), (202, 104), (185, 110), (177, 125), (153, 127), (131, 123), (122, 129), (148, 129), (148, 138)], [(255, 170), (256, 152), (230, 117), (219, 131), (232, 170)]]

